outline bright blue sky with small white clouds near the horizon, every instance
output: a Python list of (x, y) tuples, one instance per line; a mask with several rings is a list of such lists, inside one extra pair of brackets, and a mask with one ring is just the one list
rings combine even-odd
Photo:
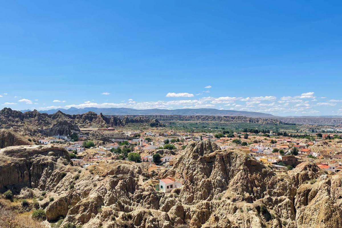
[(1, 1), (0, 108), (342, 115), (341, 27), (341, 1)]

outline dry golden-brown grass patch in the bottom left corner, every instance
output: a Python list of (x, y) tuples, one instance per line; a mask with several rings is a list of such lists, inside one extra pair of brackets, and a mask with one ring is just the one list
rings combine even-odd
[(16, 214), (0, 208), (0, 228), (46, 228), (46, 226), (32, 219), (28, 213)]

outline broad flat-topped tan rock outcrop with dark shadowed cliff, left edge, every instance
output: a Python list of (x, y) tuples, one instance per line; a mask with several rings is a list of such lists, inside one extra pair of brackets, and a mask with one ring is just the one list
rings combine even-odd
[(0, 150), (0, 191), (22, 188), (50, 190), (60, 180), (60, 162), (70, 164), (68, 152), (53, 146), (13, 146)]

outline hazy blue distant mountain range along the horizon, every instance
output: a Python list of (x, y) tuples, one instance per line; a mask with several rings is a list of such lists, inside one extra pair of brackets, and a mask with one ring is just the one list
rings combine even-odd
[[(30, 110), (22, 110), (22, 112)], [(235, 111), (235, 110), (218, 110), (214, 108), (186, 108), (186, 109), (133, 109), (133, 108), (69, 108), (69, 109), (50, 109), (41, 110), (40, 113), (53, 114), (57, 111), (69, 115), (82, 114), (89, 111), (103, 115), (202, 115), (202, 116), (246, 116), (246, 117), (260, 117), (260, 118), (274, 118), (275, 116), (262, 112), (248, 112), (248, 111)]]

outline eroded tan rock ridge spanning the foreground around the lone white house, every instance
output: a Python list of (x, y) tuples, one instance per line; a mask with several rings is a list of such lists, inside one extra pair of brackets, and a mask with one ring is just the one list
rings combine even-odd
[(312, 163), (277, 176), (241, 151), (200, 141), (159, 174), (183, 181), (168, 195), (148, 184), (157, 177), (139, 164), (118, 164), (102, 176), (82, 170), (76, 179), (78, 169), (63, 149), (7, 147), (0, 150), (0, 189), (48, 191), (54, 201), (39, 201), (47, 219), (63, 216), (63, 224), (83, 228), (342, 226), (342, 175)]

